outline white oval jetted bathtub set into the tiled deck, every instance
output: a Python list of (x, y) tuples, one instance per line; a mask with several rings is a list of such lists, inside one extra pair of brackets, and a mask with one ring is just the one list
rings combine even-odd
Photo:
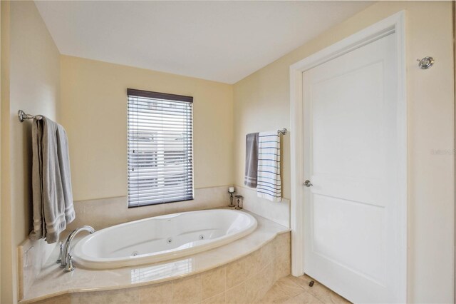
[(174, 213), (99, 230), (82, 238), (72, 254), (86, 268), (155, 263), (227, 244), (255, 228), (257, 220), (241, 211)]

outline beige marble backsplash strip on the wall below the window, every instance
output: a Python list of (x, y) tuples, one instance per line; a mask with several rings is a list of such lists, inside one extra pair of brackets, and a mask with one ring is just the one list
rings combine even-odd
[(101, 198), (89, 201), (76, 201), (76, 219), (67, 230), (89, 225), (100, 230), (120, 223), (162, 216), (164, 214), (196, 211), (229, 205), (229, 186), (195, 189), (195, 199), (176, 203), (163, 203), (138, 208), (128, 208), (127, 197)]

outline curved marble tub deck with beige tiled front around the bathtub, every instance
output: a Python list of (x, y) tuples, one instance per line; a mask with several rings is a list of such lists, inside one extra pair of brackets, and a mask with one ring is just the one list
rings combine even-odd
[[(21, 303), (160, 303), (145, 298), (145, 294), (166, 297), (170, 293), (163, 290), (170, 286), (172, 298), (164, 303), (184, 303), (185, 299), (195, 303), (222, 298), (228, 303), (257, 300), (269, 289), (261, 286), (270, 287), (289, 275), (291, 245), (289, 228), (252, 216), (257, 218), (258, 227), (250, 235), (164, 263), (112, 270), (76, 268), (73, 273), (63, 273), (55, 263), (55, 250)], [(181, 295), (187, 296), (183, 299)]]

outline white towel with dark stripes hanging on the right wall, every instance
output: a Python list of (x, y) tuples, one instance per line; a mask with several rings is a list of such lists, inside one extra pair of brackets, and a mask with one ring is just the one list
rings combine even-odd
[(277, 131), (259, 133), (257, 196), (281, 201), (280, 136)]

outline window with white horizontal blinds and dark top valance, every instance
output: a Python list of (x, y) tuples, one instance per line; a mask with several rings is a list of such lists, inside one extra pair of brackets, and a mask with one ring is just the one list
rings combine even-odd
[(193, 98), (128, 88), (128, 207), (193, 199)]

